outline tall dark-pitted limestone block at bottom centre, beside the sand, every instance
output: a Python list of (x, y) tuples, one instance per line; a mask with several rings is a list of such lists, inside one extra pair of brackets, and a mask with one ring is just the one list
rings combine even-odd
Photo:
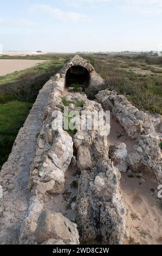
[(76, 208), (83, 240), (121, 244), (125, 233), (125, 209), (119, 189), (120, 173), (108, 157), (79, 179)]

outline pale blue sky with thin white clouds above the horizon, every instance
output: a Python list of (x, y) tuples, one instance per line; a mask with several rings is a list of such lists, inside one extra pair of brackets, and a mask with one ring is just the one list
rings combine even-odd
[(150, 51), (162, 45), (162, 0), (0, 3), (4, 51)]

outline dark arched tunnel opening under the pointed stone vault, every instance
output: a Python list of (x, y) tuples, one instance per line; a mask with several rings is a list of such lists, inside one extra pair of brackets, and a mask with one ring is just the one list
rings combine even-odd
[(72, 84), (80, 84), (83, 89), (89, 86), (90, 75), (89, 71), (83, 66), (71, 66), (66, 73), (66, 87)]

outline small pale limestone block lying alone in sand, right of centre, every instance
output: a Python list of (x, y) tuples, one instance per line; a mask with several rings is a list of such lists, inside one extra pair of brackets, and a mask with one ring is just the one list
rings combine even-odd
[(109, 158), (113, 161), (114, 166), (120, 170), (120, 172), (126, 172), (128, 168), (127, 164), (127, 149), (126, 144), (116, 143), (109, 147)]

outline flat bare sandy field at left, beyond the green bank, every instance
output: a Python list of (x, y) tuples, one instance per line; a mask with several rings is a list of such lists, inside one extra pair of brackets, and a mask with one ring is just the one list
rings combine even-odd
[(38, 63), (47, 60), (26, 60), (26, 59), (0, 59), (0, 76), (5, 76), (15, 71), (31, 68)]

